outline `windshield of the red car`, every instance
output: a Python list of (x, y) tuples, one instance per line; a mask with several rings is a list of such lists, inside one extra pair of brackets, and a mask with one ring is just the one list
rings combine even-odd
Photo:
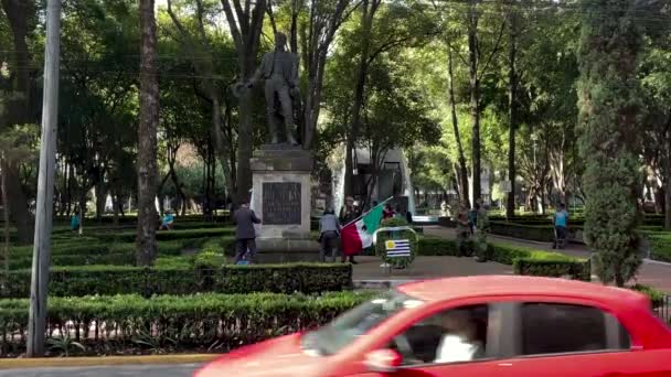
[(419, 304), (420, 300), (398, 291), (384, 293), (341, 314), (328, 325), (307, 333), (302, 347), (319, 355), (336, 354), (386, 319)]

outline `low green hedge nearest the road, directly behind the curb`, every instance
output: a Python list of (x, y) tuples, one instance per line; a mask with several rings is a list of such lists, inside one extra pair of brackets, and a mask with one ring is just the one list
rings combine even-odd
[[(369, 292), (303, 294), (195, 294), (50, 298), (47, 335), (70, 331), (88, 349), (179, 345), (227, 352), (269, 337), (313, 328), (369, 300)], [(0, 301), (0, 345), (21, 352), (29, 300)], [(138, 342), (140, 341), (140, 342)], [(158, 349), (150, 349), (159, 352)]]

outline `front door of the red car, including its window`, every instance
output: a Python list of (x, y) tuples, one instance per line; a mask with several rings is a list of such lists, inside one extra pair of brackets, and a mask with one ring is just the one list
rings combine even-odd
[[(494, 303), (456, 306), (422, 319), (394, 336), (388, 345), (403, 356), (404, 363), (386, 376), (512, 376), (508, 366), (501, 365), (499, 359), (507, 305)], [(457, 338), (459, 336), (461, 337)], [(365, 373), (359, 377), (383, 375), (385, 374)]]

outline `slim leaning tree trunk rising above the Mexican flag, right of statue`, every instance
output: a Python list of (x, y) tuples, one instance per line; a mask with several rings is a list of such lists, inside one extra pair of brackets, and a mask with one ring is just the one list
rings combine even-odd
[(363, 29), (361, 37), (361, 52), (359, 56), (359, 68), (356, 71), (356, 86), (354, 87), (354, 100), (352, 104), (350, 129), (348, 132), (347, 150), (344, 159), (344, 194), (352, 195), (353, 187), (353, 154), (356, 149), (356, 140), (359, 139), (359, 129), (361, 128), (361, 108), (363, 107), (363, 95), (365, 90), (365, 78), (369, 69), (369, 55), (371, 51), (371, 34), (373, 30), (373, 19), (375, 11), (381, 0), (363, 0), (361, 28)]

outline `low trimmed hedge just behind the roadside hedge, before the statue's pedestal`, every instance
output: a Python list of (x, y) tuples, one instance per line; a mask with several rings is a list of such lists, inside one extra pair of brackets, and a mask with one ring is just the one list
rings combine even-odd
[[(89, 294), (189, 294), (219, 293), (316, 293), (341, 291), (352, 287), (351, 265), (257, 265), (223, 266), (216, 269), (184, 265), (141, 268), (86, 266), (53, 268), (50, 297)], [(1, 298), (28, 298), (30, 270), (11, 271)]]

